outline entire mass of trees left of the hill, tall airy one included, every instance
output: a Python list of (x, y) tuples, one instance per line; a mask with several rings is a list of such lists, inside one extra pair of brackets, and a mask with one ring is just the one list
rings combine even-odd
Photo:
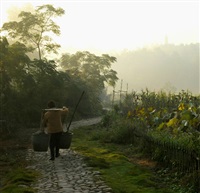
[[(59, 62), (45, 57), (58, 52), (59, 45), (51, 43), (46, 32), (60, 33), (51, 18), (62, 14), (61, 8), (44, 5), (35, 13), (21, 12), (19, 22), (5, 23), (1, 29), (7, 34), (0, 36), (0, 120), (11, 128), (39, 126), (49, 100), (68, 106), (72, 113), (83, 91), (76, 117), (97, 115), (104, 84), (114, 86), (118, 79), (111, 69), (116, 58), (107, 54), (63, 54)], [(30, 59), (30, 52), (38, 57)]]

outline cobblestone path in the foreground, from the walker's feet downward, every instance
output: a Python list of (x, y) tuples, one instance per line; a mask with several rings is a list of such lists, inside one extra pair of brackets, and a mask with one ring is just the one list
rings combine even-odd
[(60, 154), (60, 157), (50, 161), (49, 151), (34, 152), (32, 149), (28, 150), (27, 160), (32, 160), (32, 165), (28, 168), (42, 174), (38, 182), (32, 185), (38, 193), (112, 192), (111, 188), (102, 181), (100, 172), (88, 167), (83, 157), (77, 152), (71, 149), (61, 149)]

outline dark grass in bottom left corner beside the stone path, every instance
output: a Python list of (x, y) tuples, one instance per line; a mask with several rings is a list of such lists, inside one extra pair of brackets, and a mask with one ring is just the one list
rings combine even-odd
[(28, 169), (25, 147), (18, 147), (14, 140), (1, 140), (0, 148), (0, 192), (35, 193), (31, 187), (40, 175)]

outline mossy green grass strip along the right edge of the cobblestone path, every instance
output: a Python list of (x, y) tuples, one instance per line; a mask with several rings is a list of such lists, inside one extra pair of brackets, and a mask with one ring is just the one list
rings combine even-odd
[(128, 146), (102, 143), (93, 138), (98, 130), (93, 127), (96, 126), (75, 129), (71, 148), (84, 155), (89, 166), (101, 172), (114, 193), (175, 193), (160, 183), (151, 167), (134, 163), (127, 156)]

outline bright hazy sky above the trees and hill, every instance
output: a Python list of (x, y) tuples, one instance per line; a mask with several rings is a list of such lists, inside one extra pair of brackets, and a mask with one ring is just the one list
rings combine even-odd
[(65, 10), (56, 20), (61, 36), (55, 40), (67, 52), (133, 50), (163, 44), (166, 37), (174, 44), (199, 42), (199, 0), (0, 0), (0, 25), (27, 4)]

